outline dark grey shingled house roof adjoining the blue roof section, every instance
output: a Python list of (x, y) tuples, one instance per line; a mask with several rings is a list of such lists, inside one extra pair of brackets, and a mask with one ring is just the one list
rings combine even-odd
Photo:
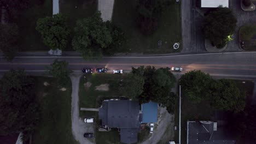
[(105, 100), (98, 112), (102, 125), (120, 128), (121, 142), (137, 142), (137, 133), (142, 121), (139, 114), (139, 103), (133, 100)]

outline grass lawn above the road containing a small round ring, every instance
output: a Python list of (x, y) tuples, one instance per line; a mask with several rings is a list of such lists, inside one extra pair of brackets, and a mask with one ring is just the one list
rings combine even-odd
[[(136, 26), (135, 19), (137, 0), (115, 1), (112, 21), (114, 25), (123, 29), (126, 34), (126, 43), (120, 47), (119, 52), (144, 52), (144, 53), (170, 53), (173, 44), (181, 43), (181, 14), (180, 3), (174, 1), (167, 7), (159, 26), (152, 35), (143, 35)], [(158, 47), (158, 41), (162, 40), (162, 46)], [(165, 41), (167, 43), (165, 44)], [(129, 50), (131, 49), (131, 51)], [(181, 49), (179, 49), (181, 51)]]

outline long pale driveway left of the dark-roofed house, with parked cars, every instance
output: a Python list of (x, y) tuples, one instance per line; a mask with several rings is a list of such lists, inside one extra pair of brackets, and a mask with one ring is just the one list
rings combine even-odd
[(85, 139), (84, 133), (94, 133), (94, 125), (84, 123), (82, 118), (79, 118), (79, 80), (80, 74), (72, 74), (71, 82), (72, 82), (72, 133), (74, 139), (77, 140), (80, 144), (91, 144), (94, 143), (94, 140)]

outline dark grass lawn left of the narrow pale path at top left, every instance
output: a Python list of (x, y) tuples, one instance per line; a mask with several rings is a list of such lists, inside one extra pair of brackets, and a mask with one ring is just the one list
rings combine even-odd
[(40, 17), (53, 15), (53, 1), (31, 1), (30, 8), (19, 11), (17, 25), (19, 27), (20, 51), (49, 50), (43, 44), (40, 34), (36, 31), (36, 22)]

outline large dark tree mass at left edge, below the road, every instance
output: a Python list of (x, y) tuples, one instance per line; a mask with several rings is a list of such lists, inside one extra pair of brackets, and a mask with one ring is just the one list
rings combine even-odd
[(0, 80), (0, 135), (33, 131), (39, 121), (34, 79), (10, 70)]

